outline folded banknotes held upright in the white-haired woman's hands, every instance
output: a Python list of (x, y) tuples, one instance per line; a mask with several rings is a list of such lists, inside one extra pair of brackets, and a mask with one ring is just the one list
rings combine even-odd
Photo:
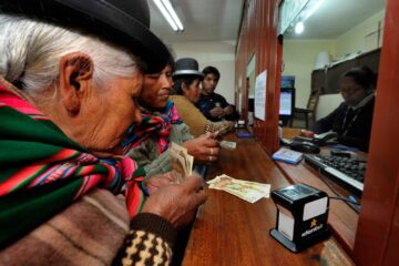
[(176, 143), (171, 143), (170, 156), (172, 160), (172, 168), (177, 174), (177, 182), (183, 182), (193, 173), (194, 157), (187, 153), (187, 150)]

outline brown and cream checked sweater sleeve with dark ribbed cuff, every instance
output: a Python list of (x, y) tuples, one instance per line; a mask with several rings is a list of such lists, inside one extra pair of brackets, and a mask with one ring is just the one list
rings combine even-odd
[(137, 214), (114, 265), (170, 265), (176, 235), (166, 219), (150, 213)]

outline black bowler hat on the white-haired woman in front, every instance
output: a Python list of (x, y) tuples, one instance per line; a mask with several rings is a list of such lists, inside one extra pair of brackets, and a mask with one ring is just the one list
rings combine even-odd
[(150, 31), (146, 0), (1, 0), (0, 12), (54, 23), (123, 47), (158, 72), (171, 57)]

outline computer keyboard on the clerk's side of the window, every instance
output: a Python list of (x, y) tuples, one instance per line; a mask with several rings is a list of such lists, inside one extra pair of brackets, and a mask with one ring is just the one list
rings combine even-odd
[(330, 155), (304, 155), (305, 162), (358, 194), (364, 191), (367, 162)]

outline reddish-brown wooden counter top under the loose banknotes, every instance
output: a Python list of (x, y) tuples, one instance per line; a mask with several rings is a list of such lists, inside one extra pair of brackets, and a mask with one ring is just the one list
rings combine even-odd
[[(237, 149), (221, 152), (208, 180), (227, 174), (268, 183), (272, 190), (289, 185), (254, 139), (236, 139), (231, 134), (225, 140), (236, 141)], [(194, 223), (183, 265), (352, 265), (332, 236), (299, 254), (272, 238), (269, 229), (276, 223), (272, 198), (250, 204), (226, 192), (208, 190), (207, 185), (205, 191), (208, 200)]]

